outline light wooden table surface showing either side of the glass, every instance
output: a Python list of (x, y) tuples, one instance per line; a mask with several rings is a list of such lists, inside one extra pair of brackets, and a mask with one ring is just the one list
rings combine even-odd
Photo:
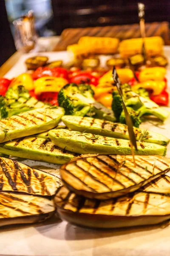
[[(45, 49), (46, 52), (51, 52), (54, 50), (56, 44), (59, 41), (59, 36), (52, 37), (42, 37), (38, 39), (38, 44), (41, 49)], [(16, 51), (10, 58), (0, 67), (0, 77), (5, 76), (5, 74), (14, 66), (14, 64), (22, 56), (22, 52)]]

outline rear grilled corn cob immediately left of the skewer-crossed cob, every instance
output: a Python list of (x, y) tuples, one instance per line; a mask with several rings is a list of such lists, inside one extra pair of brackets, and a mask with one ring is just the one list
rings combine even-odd
[(83, 36), (79, 39), (79, 45), (90, 47), (95, 54), (112, 54), (117, 52), (119, 46), (119, 39), (109, 37), (90, 37)]

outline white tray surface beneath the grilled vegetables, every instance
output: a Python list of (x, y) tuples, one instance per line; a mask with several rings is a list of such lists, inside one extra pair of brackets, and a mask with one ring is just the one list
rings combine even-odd
[[(43, 52), (50, 61), (68, 61), (66, 52)], [(170, 47), (164, 47), (170, 63)], [(13, 78), (26, 71), (24, 61), (35, 54), (25, 54), (6, 74)], [(108, 56), (101, 56), (102, 66)], [(167, 70), (170, 81), (170, 69)], [(170, 108), (167, 108), (170, 110)], [(141, 128), (170, 138), (170, 118), (162, 128), (149, 122)], [(170, 146), (167, 148), (170, 157)], [(59, 174), (59, 166), (33, 160), (19, 159), (34, 168)], [(170, 227), (133, 227), (119, 230), (90, 230), (75, 227), (55, 218), (40, 224), (16, 225), (0, 228), (0, 255), (16, 256), (170, 256)]]

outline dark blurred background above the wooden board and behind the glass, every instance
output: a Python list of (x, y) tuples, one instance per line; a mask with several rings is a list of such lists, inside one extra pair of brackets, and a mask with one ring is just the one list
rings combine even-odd
[[(41, 37), (60, 35), (65, 28), (138, 23), (136, 0), (0, 0), (0, 64), (15, 51), (13, 20), (34, 10)], [(146, 22), (170, 21), (170, 0), (143, 0)], [(2, 38), (3, 37), (3, 38)]]

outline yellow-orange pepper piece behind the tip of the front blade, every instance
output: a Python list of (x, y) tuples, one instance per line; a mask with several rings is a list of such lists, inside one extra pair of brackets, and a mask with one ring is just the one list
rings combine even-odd
[[(117, 69), (117, 74), (122, 84), (127, 83), (130, 79), (134, 77), (132, 70), (130, 70), (129, 68), (119, 68)], [(112, 70), (108, 71), (99, 79), (99, 84), (105, 82), (114, 82), (112, 77)]]

